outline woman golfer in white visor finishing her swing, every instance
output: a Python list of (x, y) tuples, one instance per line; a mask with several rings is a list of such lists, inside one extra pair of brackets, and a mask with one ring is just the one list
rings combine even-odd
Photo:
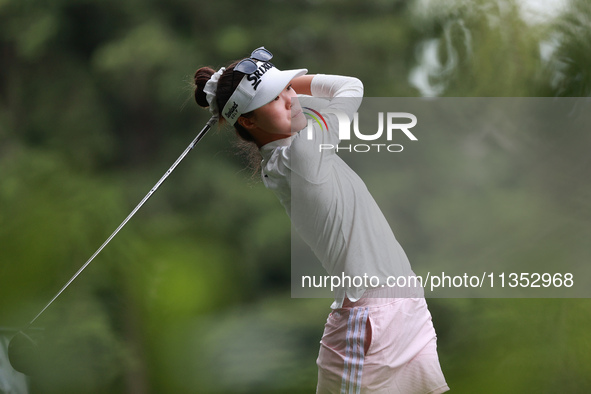
[[(326, 149), (338, 145), (339, 122), (353, 119), (363, 85), (305, 69), (280, 71), (271, 58), (261, 47), (227, 68), (200, 68), (195, 100), (260, 153), (265, 186), (329, 275), (380, 278), (371, 288), (344, 283), (335, 290), (317, 393), (449, 390), (422, 288), (386, 286), (389, 276), (414, 276), (404, 251), (363, 181)], [(320, 111), (322, 121), (308, 125), (303, 107)]]

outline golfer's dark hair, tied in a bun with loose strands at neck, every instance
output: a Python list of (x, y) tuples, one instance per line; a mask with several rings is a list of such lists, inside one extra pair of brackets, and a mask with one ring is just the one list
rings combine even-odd
[[(220, 123), (225, 122), (224, 117), (221, 115), (222, 109), (244, 76), (244, 73), (241, 73), (240, 71), (234, 71), (236, 64), (238, 64), (238, 61), (233, 62), (228, 67), (226, 67), (226, 70), (220, 76), (218, 81), (216, 104), (220, 111), (220, 114), (218, 115)], [(209, 107), (209, 103), (207, 102), (206, 94), (203, 91), (203, 88), (211, 76), (215, 74), (215, 72), (216, 71), (211, 67), (201, 67), (195, 72), (195, 101), (203, 108)], [(252, 114), (253, 112), (251, 111), (249, 113), (242, 114), (241, 116), (248, 118), (251, 117)], [(250, 134), (250, 132), (242, 127), (238, 122), (234, 123), (234, 129), (236, 134), (241, 139), (241, 141), (236, 144), (239, 153), (246, 158), (249, 167), (251, 167), (254, 172), (258, 172), (260, 168), (261, 154), (259, 152), (259, 147), (256, 140)]]

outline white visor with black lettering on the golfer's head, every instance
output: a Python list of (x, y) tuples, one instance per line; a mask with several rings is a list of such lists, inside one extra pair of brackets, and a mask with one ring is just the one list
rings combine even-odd
[(270, 103), (289, 84), (289, 81), (308, 72), (307, 69), (280, 71), (269, 62), (256, 62), (258, 68), (242, 77), (222, 110), (222, 116), (234, 125), (240, 115)]

